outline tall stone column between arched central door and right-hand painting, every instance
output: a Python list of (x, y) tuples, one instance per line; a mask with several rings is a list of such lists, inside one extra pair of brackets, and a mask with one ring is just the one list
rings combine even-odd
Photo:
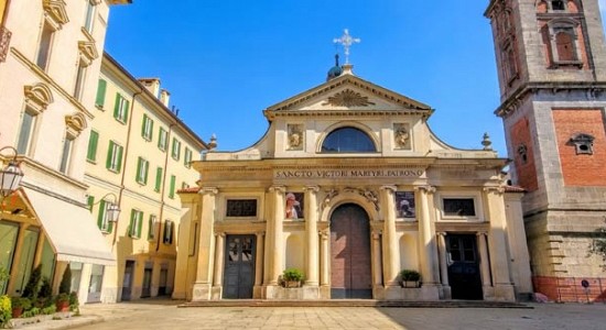
[(400, 245), (396, 234), (396, 186), (381, 187), (381, 211), (385, 220), (383, 228), (383, 277), (386, 286), (399, 286)]

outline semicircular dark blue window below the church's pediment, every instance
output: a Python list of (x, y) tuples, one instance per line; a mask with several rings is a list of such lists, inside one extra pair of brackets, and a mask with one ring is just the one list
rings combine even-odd
[(372, 140), (356, 128), (336, 129), (322, 144), (323, 153), (374, 153), (376, 151)]

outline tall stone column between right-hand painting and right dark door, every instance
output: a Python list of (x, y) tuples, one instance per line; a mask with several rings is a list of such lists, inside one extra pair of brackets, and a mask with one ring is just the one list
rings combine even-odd
[(435, 188), (431, 186), (415, 187), (416, 200), (420, 201), (421, 215), (419, 215), (419, 251), (421, 258), (421, 276), (423, 286), (439, 285), (437, 272), (437, 249), (435, 246), (435, 228), (431, 219), (432, 207), (430, 204), (430, 195), (435, 193)]

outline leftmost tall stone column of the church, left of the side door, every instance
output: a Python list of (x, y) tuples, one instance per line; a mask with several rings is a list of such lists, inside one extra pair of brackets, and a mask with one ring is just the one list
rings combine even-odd
[(215, 226), (215, 198), (217, 188), (203, 187), (202, 216), (199, 221), (199, 242), (196, 264), (196, 280), (194, 283), (192, 300), (202, 301), (210, 299), (212, 272), (213, 272), (213, 248)]

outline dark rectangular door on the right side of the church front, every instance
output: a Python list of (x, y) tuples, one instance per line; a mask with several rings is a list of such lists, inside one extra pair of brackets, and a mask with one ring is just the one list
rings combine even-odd
[(481, 278), (476, 235), (447, 237), (448, 283), (453, 299), (481, 300)]

